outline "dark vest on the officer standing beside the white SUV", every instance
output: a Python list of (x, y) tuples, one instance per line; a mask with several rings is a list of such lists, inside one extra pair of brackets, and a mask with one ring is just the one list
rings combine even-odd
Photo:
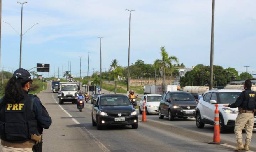
[(256, 109), (256, 93), (251, 90), (245, 90), (244, 94), (245, 94), (245, 98), (242, 104), (242, 109), (244, 110)]

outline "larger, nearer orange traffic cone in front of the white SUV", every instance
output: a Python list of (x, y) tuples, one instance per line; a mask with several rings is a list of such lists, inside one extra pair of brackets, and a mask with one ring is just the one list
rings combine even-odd
[(224, 144), (224, 142), (220, 141), (219, 136), (219, 110), (218, 110), (218, 104), (215, 105), (216, 109), (214, 111), (215, 118), (214, 118), (214, 133), (213, 133), (213, 141), (209, 141), (208, 144)]

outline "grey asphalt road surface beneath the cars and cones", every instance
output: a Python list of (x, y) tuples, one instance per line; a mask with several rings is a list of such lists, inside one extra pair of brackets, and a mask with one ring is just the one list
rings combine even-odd
[[(138, 129), (107, 127), (97, 130), (91, 124), (90, 103), (79, 112), (71, 103), (58, 104), (57, 94), (48, 89), (38, 94), (52, 117), (52, 125), (44, 130), (44, 152), (226, 152), (235, 146), (233, 131), (221, 134), (226, 144), (209, 145), (213, 139), (213, 126), (196, 128), (195, 119), (159, 119), (158, 115), (147, 116), (147, 122), (140, 122)], [(56, 102), (56, 101), (57, 102)], [(141, 120), (141, 115), (140, 118)], [(252, 139), (256, 139), (256, 134)], [(251, 142), (251, 150), (256, 151), (256, 142)]]

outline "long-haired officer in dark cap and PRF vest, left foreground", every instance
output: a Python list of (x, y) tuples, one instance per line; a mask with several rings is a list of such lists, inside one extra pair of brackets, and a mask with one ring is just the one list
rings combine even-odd
[(40, 99), (28, 94), (31, 84), (30, 73), (22, 68), (6, 84), (0, 100), (0, 152), (42, 151), (43, 128), (52, 119)]

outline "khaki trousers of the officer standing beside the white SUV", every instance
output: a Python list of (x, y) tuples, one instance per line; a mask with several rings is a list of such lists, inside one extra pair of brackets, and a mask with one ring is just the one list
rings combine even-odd
[(253, 113), (239, 113), (235, 120), (235, 136), (237, 141), (242, 140), (242, 129), (245, 128), (245, 141), (251, 141), (252, 130), (254, 127)]

